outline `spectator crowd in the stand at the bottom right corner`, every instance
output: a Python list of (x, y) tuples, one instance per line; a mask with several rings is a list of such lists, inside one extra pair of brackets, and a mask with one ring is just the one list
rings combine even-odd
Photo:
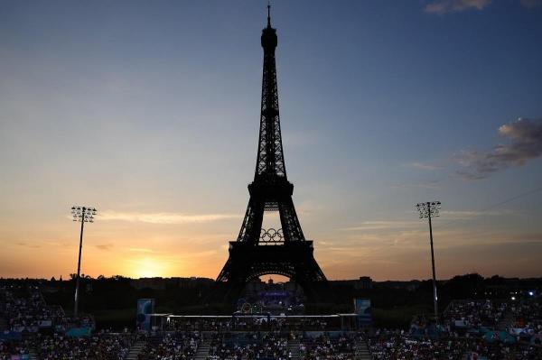
[(542, 359), (540, 300), (455, 300), (440, 326), (415, 318), (409, 331), (378, 329), (367, 337), (376, 360)]

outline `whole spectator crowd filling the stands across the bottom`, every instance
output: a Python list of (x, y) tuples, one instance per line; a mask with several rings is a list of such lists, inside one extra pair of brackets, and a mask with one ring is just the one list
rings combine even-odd
[[(454, 300), (438, 324), (420, 316), (408, 330), (337, 331), (325, 318), (191, 318), (151, 334), (100, 332), (48, 306), (36, 287), (0, 287), (0, 360), (347, 360), (362, 349), (375, 360), (542, 359), (540, 298)], [(203, 351), (204, 350), (204, 351)]]

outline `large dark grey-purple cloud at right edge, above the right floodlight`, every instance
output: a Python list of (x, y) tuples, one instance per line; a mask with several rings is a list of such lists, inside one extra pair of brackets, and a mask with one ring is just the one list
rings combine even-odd
[(455, 174), (465, 180), (481, 180), (510, 166), (521, 166), (542, 155), (542, 119), (522, 119), (501, 125), (500, 136), (511, 141), (491, 152), (463, 151), (454, 157), (463, 169)]

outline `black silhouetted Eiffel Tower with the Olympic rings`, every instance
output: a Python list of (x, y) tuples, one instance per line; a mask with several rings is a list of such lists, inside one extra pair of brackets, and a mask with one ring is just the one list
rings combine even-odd
[[(264, 70), (256, 171), (248, 185), (250, 199), (243, 225), (237, 241), (229, 242), (229, 259), (217, 282), (226, 283), (232, 298), (247, 282), (265, 274), (280, 274), (313, 297), (314, 283), (326, 278), (314, 260), (313, 242), (304, 238), (292, 201), (294, 185), (286, 177), (276, 87), (277, 37), (271, 27), (269, 5), (261, 44)], [(266, 211), (278, 211), (282, 228), (262, 229)]]

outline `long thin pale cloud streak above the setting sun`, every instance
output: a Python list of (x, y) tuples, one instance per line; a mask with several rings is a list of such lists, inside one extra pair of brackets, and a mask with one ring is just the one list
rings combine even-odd
[(129, 221), (149, 224), (188, 224), (208, 223), (211, 221), (239, 218), (238, 214), (200, 214), (187, 215), (181, 213), (128, 213), (113, 210), (103, 211), (99, 218), (106, 221)]

